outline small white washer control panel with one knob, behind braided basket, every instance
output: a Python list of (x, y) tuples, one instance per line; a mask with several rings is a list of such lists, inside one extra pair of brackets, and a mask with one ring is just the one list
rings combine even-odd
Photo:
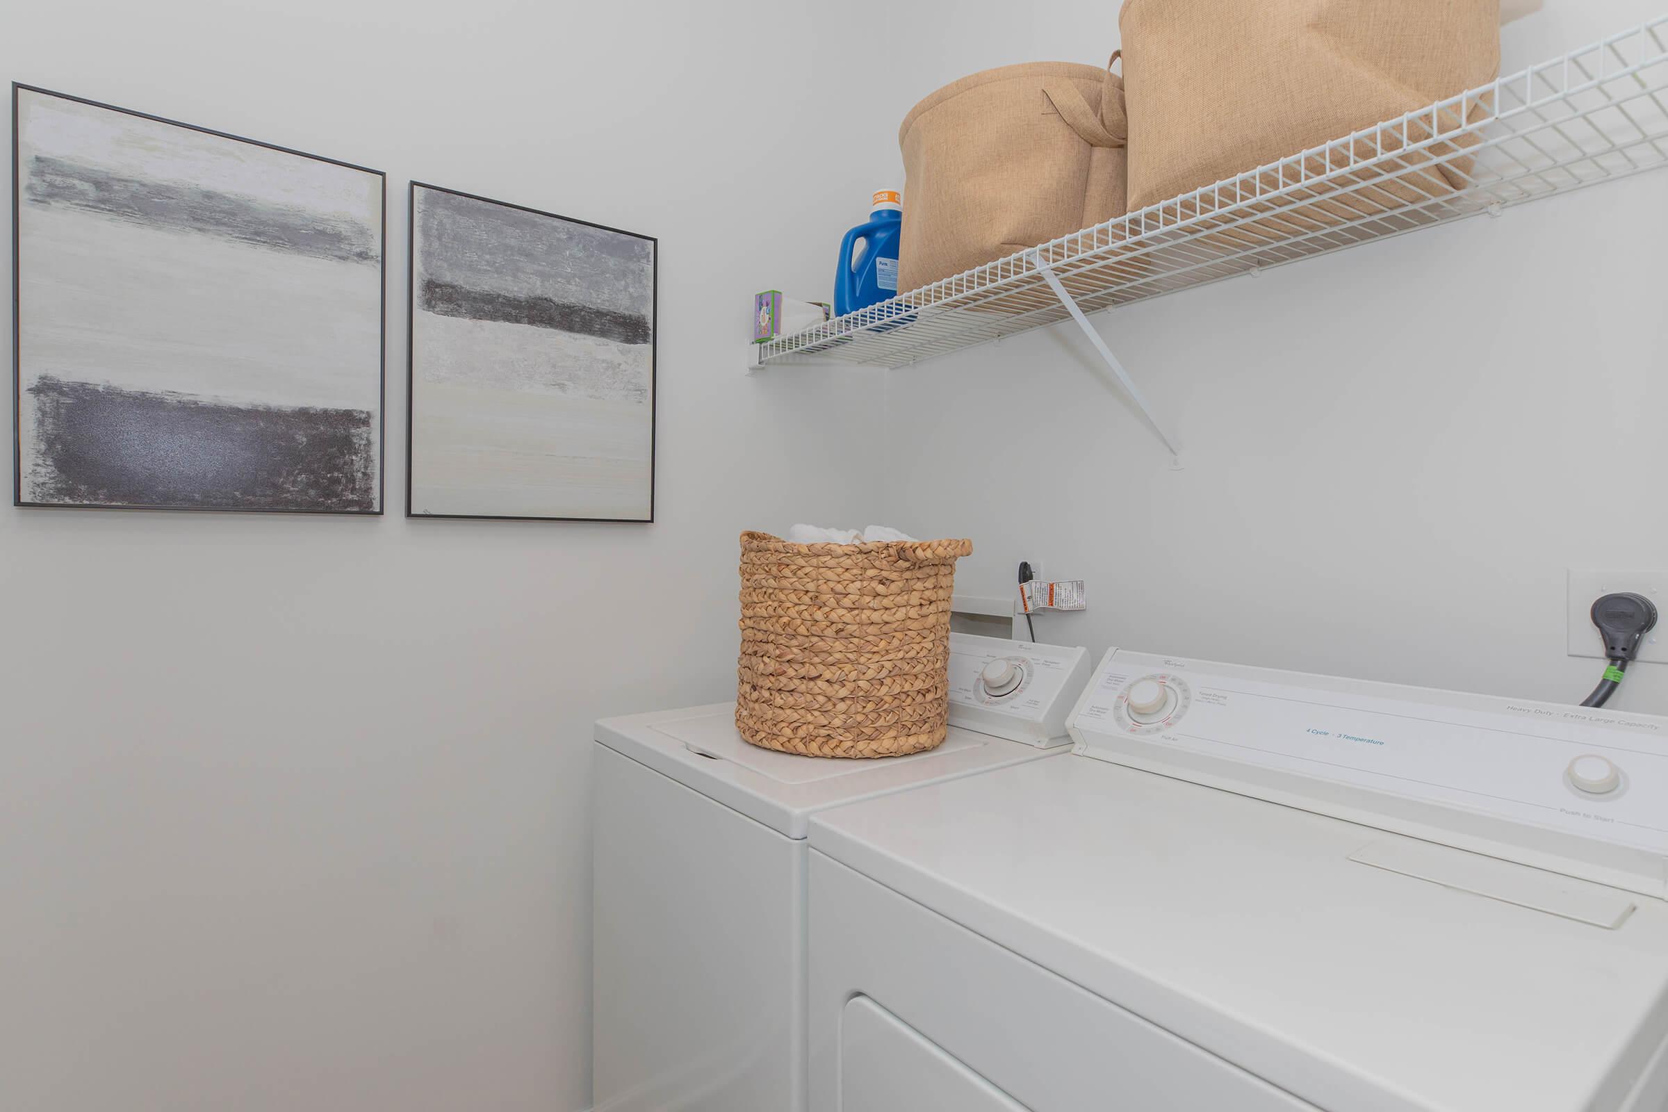
[(1064, 745), (1066, 715), (1089, 665), (1088, 649), (951, 634), (951, 725), (1029, 745)]

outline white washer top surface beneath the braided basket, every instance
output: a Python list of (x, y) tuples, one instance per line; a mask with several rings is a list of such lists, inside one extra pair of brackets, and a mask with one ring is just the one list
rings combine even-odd
[(949, 727), (942, 745), (907, 757), (797, 757), (744, 742), (732, 702), (600, 719), (595, 739), (792, 839), (824, 807), (1066, 752)]

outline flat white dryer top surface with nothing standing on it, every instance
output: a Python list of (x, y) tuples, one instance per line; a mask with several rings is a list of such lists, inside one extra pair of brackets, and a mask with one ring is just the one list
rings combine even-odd
[[(1333, 1112), (1615, 1110), (1668, 1035), (1661, 900), (1081, 755), (822, 812), (811, 845)], [(1393, 870), (1429, 855), (1635, 909)]]

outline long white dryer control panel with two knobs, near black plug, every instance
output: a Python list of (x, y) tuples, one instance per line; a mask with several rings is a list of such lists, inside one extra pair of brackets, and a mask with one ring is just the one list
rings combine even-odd
[(1113, 650), (1076, 752), (1668, 897), (1668, 719)]

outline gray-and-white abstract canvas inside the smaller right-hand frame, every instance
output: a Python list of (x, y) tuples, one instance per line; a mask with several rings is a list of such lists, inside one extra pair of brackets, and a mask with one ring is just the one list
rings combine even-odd
[(415, 517), (654, 518), (656, 240), (412, 185)]

